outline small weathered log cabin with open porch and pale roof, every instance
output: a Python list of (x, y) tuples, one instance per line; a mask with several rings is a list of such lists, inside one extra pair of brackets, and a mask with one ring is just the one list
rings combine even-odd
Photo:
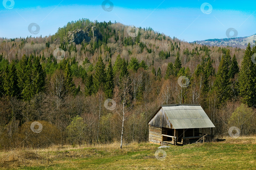
[(161, 105), (149, 120), (149, 143), (188, 144), (211, 140), (213, 123), (200, 105)]

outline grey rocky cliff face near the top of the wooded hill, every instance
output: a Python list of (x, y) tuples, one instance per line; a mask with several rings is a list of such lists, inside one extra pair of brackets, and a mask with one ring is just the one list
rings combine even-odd
[(99, 32), (95, 26), (86, 27), (83, 30), (69, 31), (67, 38), (64, 40), (68, 43), (81, 44), (84, 40), (90, 42), (91, 40), (97, 41), (99, 38)]

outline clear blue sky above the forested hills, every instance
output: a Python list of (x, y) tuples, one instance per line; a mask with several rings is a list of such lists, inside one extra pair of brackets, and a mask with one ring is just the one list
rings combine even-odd
[[(113, 10), (110, 12), (102, 9), (102, 2), (103, 0), (3, 0), (3, 4), (7, 5), (4, 7), (0, 4), (0, 37), (49, 36), (67, 22), (82, 18), (99, 22), (116, 20), (125, 25), (142, 28), (150, 26), (155, 31), (187, 42), (226, 38), (226, 31), (229, 28), (237, 30), (237, 37), (251, 36), (256, 33), (256, 1), (111, 0)], [(204, 5), (202, 12), (203, 3), (207, 5)], [(28, 31), (28, 25), (31, 23), (40, 26), (38, 34), (31, 34)]]

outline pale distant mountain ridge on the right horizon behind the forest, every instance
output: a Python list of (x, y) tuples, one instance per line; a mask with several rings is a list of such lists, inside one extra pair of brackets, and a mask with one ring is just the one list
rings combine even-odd
[(210, 45), (210, 46), (229, 46), (237, 48), (246, 48), (248, 43), (255, 44), (256, 34), (249, 37), (235, 37), (222, 39), (208, 39), (203, 41), (194, 41), (194, 43)]

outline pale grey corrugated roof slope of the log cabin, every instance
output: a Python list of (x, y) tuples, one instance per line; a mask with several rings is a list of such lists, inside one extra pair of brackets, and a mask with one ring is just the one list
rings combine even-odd
[(161, 105), (174, 129), (215, 127), (200, 105)]

